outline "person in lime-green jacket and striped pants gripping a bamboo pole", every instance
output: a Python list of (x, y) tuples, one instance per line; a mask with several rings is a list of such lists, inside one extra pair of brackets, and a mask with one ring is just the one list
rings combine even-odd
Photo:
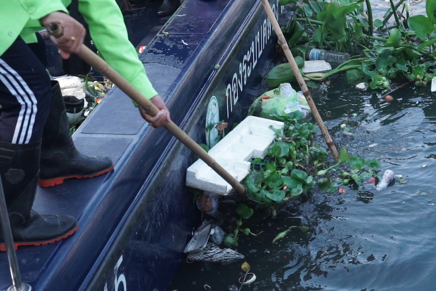
[[(83, 25), (67, 14), (68, 5), (68, 0), (0, 3), (0, 178), (15, 248), (55, 242), (78, 228), (72, 216), (40, 215), (32, 210), (43, 151), (43, 131), (48, 124), (57, 123), (46, 120), (50, 116), (53, 90), (58, 89), (53, 89), (56, 86), (52, 86), (45, 67), (28, 44), (36, 40), (36, 33), (43, 26), (55, 22), (63, 27), (63, 35), (58, 38), (51, 36), (62, 58), (80, 52), (86, 32)], [(139, 106), (141, 116), (154, 128), (169, 122), (169, 110), (152, 87), (135, 48), (128, 41), (116, 3), (108, 0), (102, 5), (101, 2), (83, 0), (79, 11), (89, 24), (91, 37), (102, 57), (159, 108), (159, 112), (151, 116)], [(57, 117), (61, 118), (60, 115), (57, 112)], [(51, 144), (52, 149), (61, 146), (56, 142), (59, 138), (56, 131), (58, 129), (49, 138), (55, 144)], [(69, 143), (62, 150), (54, 151), (56, 155), (68, 156), (69, 151), (75, 151), (70, 137), (67, 140)], [(68, 162), (65, 156), (63, 160)], [(57, 166), (52, 166), (56, 174)], [(60, 169), (61, 175), (64, 170)], [(0, 234), (0, 251), (5, 250), (3, 234)]]

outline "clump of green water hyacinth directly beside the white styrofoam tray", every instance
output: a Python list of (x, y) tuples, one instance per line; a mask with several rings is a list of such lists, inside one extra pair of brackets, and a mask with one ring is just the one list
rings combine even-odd
[(252, 200), (283, 202), (313, 188), (311, 169), (328, 154), (324, 148), (311, 144), (318, 127), (301, 116), (299, 111), (275, 116), (285, 123), (283, 135), (276, 131), (277, 139), (266, 157), (251, 161), (251, 172), (242, 182)]

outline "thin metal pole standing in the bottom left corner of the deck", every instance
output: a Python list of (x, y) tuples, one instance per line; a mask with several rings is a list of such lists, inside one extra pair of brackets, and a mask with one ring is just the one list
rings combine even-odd
[(11, 224), (9, 223), (8, 207), (6, 206), (5, 193), (3, 192), (2, 178), (0, 177), (0, 224), (2, 225), (3, 240), (8, 253), (9, 269), (11, 271), (12, 286), (8, 291), (30, 291), (29, 284), (21, 282), (20, 270), (18, 269), (17, 255), (15, 254), (14, 240), (12, 238)]

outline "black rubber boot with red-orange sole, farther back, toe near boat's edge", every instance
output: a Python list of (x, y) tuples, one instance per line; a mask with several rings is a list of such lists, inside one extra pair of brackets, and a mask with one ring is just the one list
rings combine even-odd
[(62, 184), (69, 178), (91, 178), (113, 169), (106, 156), (86, 156), (74, 146), (61, 89), (52, 81), (52, 106), (42, 134), (39, 186)]

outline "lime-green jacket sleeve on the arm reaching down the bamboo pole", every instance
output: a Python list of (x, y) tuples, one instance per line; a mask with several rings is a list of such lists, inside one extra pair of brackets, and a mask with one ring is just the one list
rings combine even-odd
[(79, 12), (103, 59), (146, 98), (157, 95), (135, 47), (130, 43), (121, 10), (115, 0), (79, 0)]

